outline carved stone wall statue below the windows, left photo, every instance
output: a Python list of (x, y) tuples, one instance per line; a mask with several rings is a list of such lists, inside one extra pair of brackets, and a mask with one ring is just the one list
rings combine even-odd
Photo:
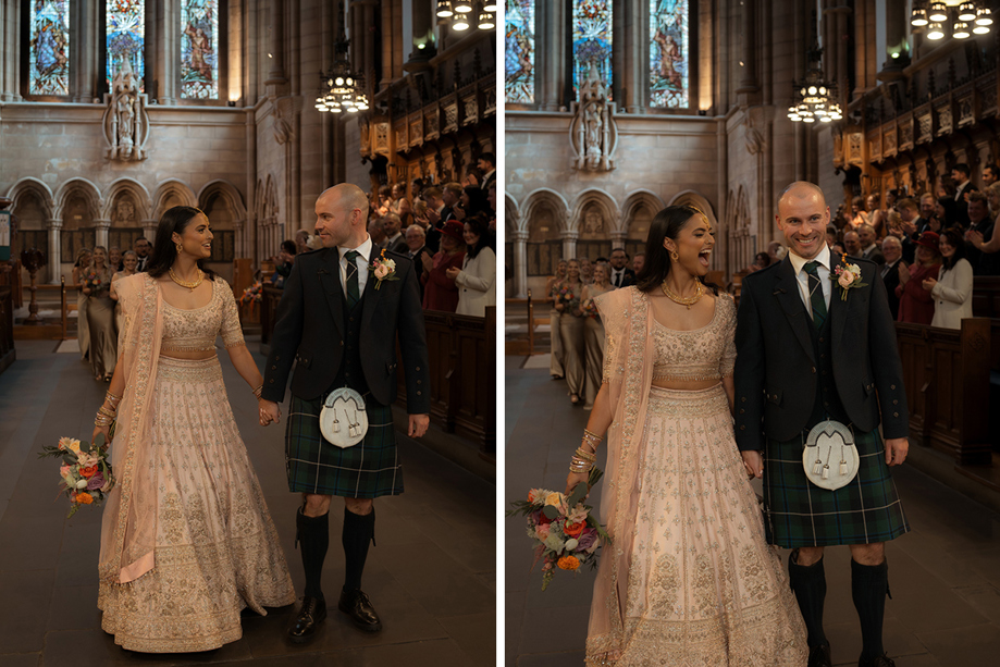
[(149, 138), (147, 98), (139, 92), (138, 81), (127, 59), (111, 81), (111, 92), (104, 96), (104, 138), (110, 148), (106, 157), (125, 162), (147, 158), (146, 140)]

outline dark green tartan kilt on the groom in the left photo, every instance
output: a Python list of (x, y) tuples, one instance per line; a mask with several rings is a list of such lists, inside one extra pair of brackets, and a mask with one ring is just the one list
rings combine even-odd
[(396, 452), (393, 410), (365, 394), (368, 433), (353, 447), (330, 444), (320, 431), (323, 396), (304, 400), (295, 395), (285, 428), (288, 491), (375, 498), (403, 493), (403, 466)]

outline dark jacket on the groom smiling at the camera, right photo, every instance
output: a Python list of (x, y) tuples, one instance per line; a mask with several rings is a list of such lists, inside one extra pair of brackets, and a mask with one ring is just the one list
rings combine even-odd
[[(860, 282), (867, 285), (848, 289), (842, 300), (832, 284), (832, 387), (860, 432), (878, 427), (880, 412), (885, 437), (906, 437), (906, 394), (886, 287), (874, 262), (848, 261), (861, 267)], [(740, 449), (764, 449), (765, 436), (787, 441), (810, 425), (822, 372), (812, 326), (788, 257), (743, 279), (734, 371)]]

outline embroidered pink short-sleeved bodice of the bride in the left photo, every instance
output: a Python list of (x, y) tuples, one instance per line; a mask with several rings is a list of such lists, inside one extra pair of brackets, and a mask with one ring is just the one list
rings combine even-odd
[(209, 351), (215, 349), (219, 335), (226, 348), (244, 345), (236, 299), (221, 277), (212, 281), (212, 298), (207, 306), (184, 310), (163, 301), (161, 351)]

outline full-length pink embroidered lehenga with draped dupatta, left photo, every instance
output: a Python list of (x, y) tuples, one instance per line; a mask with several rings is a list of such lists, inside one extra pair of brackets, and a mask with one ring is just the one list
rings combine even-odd
[(196, 310), (164, 302), (146, 273), (114, 287), (126, 384), (101, 528), (101, 626), (132, 651), (208, 651), (242, 637), (244, 607), (295, 600), (219, 359), (160, 356), (212, 349), (220, 333), (242, 345), (236, 304), (221, 280)]

